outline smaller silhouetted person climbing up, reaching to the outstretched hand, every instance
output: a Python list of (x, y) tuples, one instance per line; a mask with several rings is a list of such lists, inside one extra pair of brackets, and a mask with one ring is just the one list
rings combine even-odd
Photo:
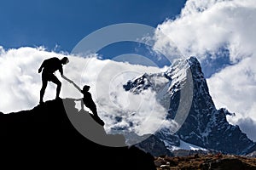
[(63, 78), (65, 80), (67, 80), (67, 82), (73, 83), (73, 86), (75, 88), (77, 88), (79, 90), (79, 92), (81, 92), (82, 94), (84, 94), (84, 98), (82, 99), (75, 99), (76, 101), (80, 101), (81, 102), (81, 109), (84, 110), (84, 105), (90, 109), (90, 111), (92, 112), (93, 116), (92, 118), (98, 122), (100, 125), (104, 126), (104, 122), (102, 121), (102, 119), (98, 116), (97, 114), (97, 109), (96, 109), (96, 104), (94, 103), (91, 94), (89, 92), (90, 86), (88, 85), (84, 85), (84, 88), (81, 89), (79, 88), (79, 86), (74, 83), (72, 80), (68, 79), (67, 77), (63, 76)]

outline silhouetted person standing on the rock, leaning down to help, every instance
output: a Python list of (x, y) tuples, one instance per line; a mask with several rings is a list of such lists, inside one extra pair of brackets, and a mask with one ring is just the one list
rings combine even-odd
[(45, 59), (38, 69), (38, 73), (40, 73), (43, 70), (42, 73), (42, 88), (40, 90), (40, 101), (39, 103), (44, 103), (44, 92), (47, 87), (48, 82), (53, 82), (57, 85), (56, 88), (56, 98), (60, 99), (59, 95), (61, 92), (61, 82), (58, 80), (57, 77), (55, 77), (54, 73), (55, 71), (60, 71), (61, 77), (63, 77), (63, 68), (62, 65), (66, 65), (69, 62), (67, 57), (63, 57), (62, 59), (58, 59), (56, 57), (52, 57), (49, 59)]

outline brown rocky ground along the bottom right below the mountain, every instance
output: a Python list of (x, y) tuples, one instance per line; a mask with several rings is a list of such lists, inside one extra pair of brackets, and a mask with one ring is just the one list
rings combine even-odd
[(162, 156), (155, 157), (157, 170), (162, 169), (200, 169), (200, 170), (255, 170), (256, 158), (222, 154)]

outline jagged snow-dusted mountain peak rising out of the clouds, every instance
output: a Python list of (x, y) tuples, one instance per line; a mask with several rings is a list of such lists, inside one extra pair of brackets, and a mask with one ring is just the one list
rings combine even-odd
[[(165, 78), (166, 82), (153, 83), (159, 78)], [(216, 109), (195, 57), (178, 59), (166, 72), (144, 74), (125, 83), (124, 88), (134, 94), (145, 88), (161, 93), (159, 102), (168, 111), (166, 119), (179, 124), (178, 129), (161, 129), (156, 133), (167, 145), (173, 144), (172, 132), (176, 130), (178, 138), (185, 142), (224, 153), (243, 155), (256, 145), (238, 126), (227, 122), (226, 116), (232, 113)]]

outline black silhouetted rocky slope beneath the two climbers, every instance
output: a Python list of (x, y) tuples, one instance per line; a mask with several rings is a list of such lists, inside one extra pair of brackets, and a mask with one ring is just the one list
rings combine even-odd
[[(88, 128), (101, 139), (125, 142), (123, 136), (106, 134), (86, 111), (78, 111), (73, 99), (63, 99), (73, 114), (85, 114)], [(154, 157), (135, 146), (108, 147), (86, 139), (73, 127), (63, 102), (51, 100), (31, 111), (0, 114), (2, 162), (18, 167), (80, 167), (88, 169), (156, 169)], [(96, 126), (91, 128), (90, 126)], [(19, 163), (18, 163), (19, 162)], [(21, 163), (20, 163), (21, 162)]]

